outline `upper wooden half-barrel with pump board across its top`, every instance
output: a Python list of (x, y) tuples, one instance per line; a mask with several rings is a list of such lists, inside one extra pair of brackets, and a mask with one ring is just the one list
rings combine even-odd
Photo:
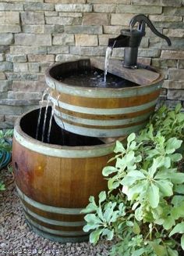
[[(104, 59), (80, 59), (49, 67), (46, 82), (56, 104), (55, 121), (69, 132), (119, 137), (138, 132), (154, 112), (163, 76), (151, 67), (130, 70), (111, 59), (108, 71), (125, 78), (122, 87), (89, 87), (67, 83), (71, 74), (104, 69)], [(129, 81), (132, 81), (131, 83)]]

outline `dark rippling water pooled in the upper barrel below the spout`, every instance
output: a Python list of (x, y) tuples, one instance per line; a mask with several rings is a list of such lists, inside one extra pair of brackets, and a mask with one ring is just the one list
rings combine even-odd
[(135, 86), (132, 81), (119, 78), (113, 74), (107, 74), (106, 82), (104, 82), (104, 71), (102, 70), (86, 70), (83, 73), (65, 74), (65, 77), (57, 78), (67, 85), (76, 85), (80, 87), (90, 88), (126, 88)]

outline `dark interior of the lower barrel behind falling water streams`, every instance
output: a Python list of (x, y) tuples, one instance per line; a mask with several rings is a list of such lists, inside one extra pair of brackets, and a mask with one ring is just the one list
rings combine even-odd
[[(36, 139), (37, 134), (37, 121), (39, 115), (39, 109), (33, 110), (30, 113), (26, 114), (21, 118), (20, 128), (30, 137)], [(44, 113), (45, 107), (43, 107), (41, 111), (41, 122), (39, 125), (39, 130), (37, 134), (37, 140), (41, 142), (42, 140), (42, 132), (43, 132), (43, 124), (44, 124)], [(48, 106), (48, 114), (45, 123), (45, 132), (44, 132), (44, 142), (48, 143), (48, 130), (49, 130), (49, 122), (51, 117), (51, 106)], [(51, 133), (50, 133), (50, 142), (49, 144), (55, 144), (59, 146), (95, 146), (104, 144), (100, 139), (95, 137), (88, 137), (83, 135), (76, 135), (72, 132), (67, 132), (64, 129), (60, 128), (58, 124), (56, 124), (55, 119), (52, 118), (51, 122)]]

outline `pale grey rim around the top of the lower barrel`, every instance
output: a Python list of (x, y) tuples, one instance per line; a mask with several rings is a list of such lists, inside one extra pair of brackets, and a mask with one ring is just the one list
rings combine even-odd
[[(15, 122), (14, 132), (18, 133), (21, 137), (23, 137), (23, 139), (28, 139), (30, 142), (35, 143), (35, 144), (39, 144), (40, 146), (47, 147), (47, 148), (49, 146), (49, 148), (51, 148), (51, 149), (66, 150), (66, 151), (68, 150), (69, 152), (71, 150), (73, 150), (73, 151), (81, 150), (83, 152), (86, 152), (87, 150), (94, 151), (94, 150), (97, 150), (97, 149), (105, 149), (105, 148), (110, 149), (111, 147), (115, 146), (115, 141), (116, 140), (119, 140), (119, 141), (122, 142), (124, 139), (126, 139), (126, 136), (118, 137), (113, 142), (108, 142), (108, 143), (104, 143), (104, 144), (102, 142), (101, 145), (94, 145), (94, 146), (60, 146), (60, 145), (56, 145), (56, 144), (48, 144), (48, 143), (45, 143), (45, 142), (41, 142), (40, 140), (34, 139), (30, 135), (28, 135), (26, 132), (23, 132), (22, 128), (20, 127), (20, 121), (23, 117), (25, 117), (27, 114), (30, 114), (30, 112), (32, 112), (34, 110), (39, 110), (39, 109), (40, 109), (40, 107), (37, 107), (33, 110), (28, 110), (26, 113), (19, 116), (16, 119), (16, 122)], [(78, 134), (76, 134), (76, 135), (78, 135)], [(15, 137), (15, 135), (14, 135), (14, 137)]]

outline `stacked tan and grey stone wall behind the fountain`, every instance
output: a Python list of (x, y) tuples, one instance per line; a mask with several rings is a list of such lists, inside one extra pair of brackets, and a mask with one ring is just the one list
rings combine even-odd
[[(184, 1), (182, 0), (1, 0), (0, 128), (10, 128), (19, 114), (38, 106), (51, 63), (81, 56), (104, 56), (108, 38), (146, 14), (157, 30), (147, 29), (140, 62), (165, 74), (161, 99), (168, 106), (184, 100)], [(114, 49), (113, 57), (122, 58)]]

